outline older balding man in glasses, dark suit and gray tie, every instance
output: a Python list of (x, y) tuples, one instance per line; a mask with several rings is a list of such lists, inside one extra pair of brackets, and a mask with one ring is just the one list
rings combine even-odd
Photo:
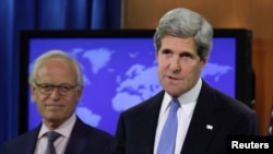
[(43, 122), (15, 139), (7, 141), (2, 154), (43, 154), (49, 145), (47, 135), (57, 132), (57, 154), (109, 154), (115, 143), (109, 133), (85, 125), (75, 114), (83, 91), (79, 63), (68, 54), (51, 50), (41, 55), (29, 75), (32, 98)]

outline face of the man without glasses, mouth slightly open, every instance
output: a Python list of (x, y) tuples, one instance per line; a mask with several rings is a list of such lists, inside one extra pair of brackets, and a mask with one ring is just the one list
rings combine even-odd
[(207, 58), (200, 59), (192, 37), (165, 36), (156, 59), (163, 88), (178, 97), (195, 85)]

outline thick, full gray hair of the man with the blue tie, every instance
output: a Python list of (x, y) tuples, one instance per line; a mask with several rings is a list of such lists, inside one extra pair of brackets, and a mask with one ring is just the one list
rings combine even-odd
[(193, 37), (198, 45), (201, 59), (209, 56), (212, 49), (213, 27), (197, 12), (185, 8), (168, 11), (161, 20), (154, 34), (156, 51), (162, 46), (162, 38), (166, 35), (175, 37)]

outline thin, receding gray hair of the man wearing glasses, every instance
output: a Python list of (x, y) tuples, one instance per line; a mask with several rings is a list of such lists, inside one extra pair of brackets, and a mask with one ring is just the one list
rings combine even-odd
[(79, 62), (74, 58), (72, 58), (69, 54), (67, 54), (62, 50), (49, 50), (49, 51), (43, 54), (41, 56), (39, 56), (35, 60), (33, 70), (32, 70), (29, 78), (28, 78), (29, 84), (35, 83), (38, 68), (43, 64), (43, 62), (48, 60), (48, 59), (52, 59), (52, 58), (61, 58), (61, 59), (66, 59), (66, 60), (70, 61), (76, 71), (78, 85), (83, 86), (83, 74), (82, 74), (82, 70), (81, 70)]

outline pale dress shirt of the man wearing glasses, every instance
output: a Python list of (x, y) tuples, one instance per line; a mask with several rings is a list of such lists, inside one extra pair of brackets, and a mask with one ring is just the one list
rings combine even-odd
[[(64, 121), (58, 129), (58, 133), (61, 134), (55, 142), (55, 149), (57, 154), (63, 154), (71, 134), (71, 131), (73, 129), (73, 126), (75, 123), (75, 115), (72, 115), (67, 121)], [(50, 131), (45, 123), (43, 122), (41, 128), (39, 130), (38, 139), (37, 139), (37, 144), (35, 147), (34, 154), (44, 154), (46, 152), (47, 147), (47, 137), (46, 133)]]

